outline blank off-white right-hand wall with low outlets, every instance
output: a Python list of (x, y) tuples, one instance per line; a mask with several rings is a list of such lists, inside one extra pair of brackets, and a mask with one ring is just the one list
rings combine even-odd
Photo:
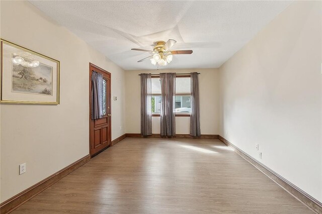
[(321, 2), (293, 3), (220, 67), (220, 135), (322, 202), (321, 50)]

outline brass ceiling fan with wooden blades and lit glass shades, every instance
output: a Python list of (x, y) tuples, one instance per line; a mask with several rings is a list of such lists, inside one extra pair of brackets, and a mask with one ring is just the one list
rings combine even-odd
[(166, 66), (170, 62), (172, 62), (173, 55), (175, 54), (192, 54), (192, 50), (179, 50), (179, 51), (170, 51), (169, 49), (176, 44), (177, 41), (173, 39), (169, 39), (166, 43), (165, 41), (156, 41), (154, 42), (154, 48), (153, 51), (149, 50), (143, 50), (143, 49), (137, 49), (132, 48), (133, 51), (144, 51), (149, 52), (153, 55), (145, 57), (144, 59), (141, 59), (137, 62), (142, 62), (146, 59), (150, 59), (151, 63), (153, 65), (156, 65), (156, 63), (160, 66)]

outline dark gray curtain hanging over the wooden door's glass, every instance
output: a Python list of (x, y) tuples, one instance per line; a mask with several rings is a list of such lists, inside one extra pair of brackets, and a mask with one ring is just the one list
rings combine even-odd
[(103, 118), (103, 75), (92, 72), (92, 119)]

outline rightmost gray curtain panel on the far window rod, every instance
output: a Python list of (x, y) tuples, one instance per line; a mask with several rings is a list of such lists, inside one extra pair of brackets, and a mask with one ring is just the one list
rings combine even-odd
[(191, 73), (191, 115), (190, 115), (190, 135), (201, 136), (200, 114), (199, 114), (199, 80), (198, 73)]

